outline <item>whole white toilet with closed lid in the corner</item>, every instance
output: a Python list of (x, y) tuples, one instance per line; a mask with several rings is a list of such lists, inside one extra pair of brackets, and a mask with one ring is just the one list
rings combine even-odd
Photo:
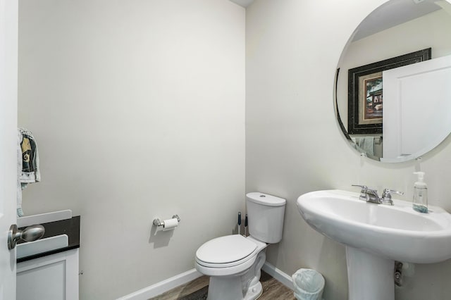
[(266, 245), (282, 239), (286, 200), (254, 192), (246, 195), (246, 204), (249, 237), (218, 237), (197, 249), (196, 269), (210, 276), (208, 300), (254, 300), (261, 295)]

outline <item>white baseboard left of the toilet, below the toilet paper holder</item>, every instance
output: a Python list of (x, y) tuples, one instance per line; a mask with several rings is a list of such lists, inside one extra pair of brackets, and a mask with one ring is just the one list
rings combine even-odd
[(184, 273), (180, 273), (179, 275), (175, 275), (171, 278), (158, 282), (155, 285), (144, 287), (144, 289), (140, 289), (139, 291), (118, 298), (117, 300), (147, 300), (154, 296), (158, 296), (159, 294), (163, 294), (164, 292), (168, 292), (168, 290), (173, 289), (174, 287), (184, 285), (185, 283), (201, 276), (202, 274), (197, 272), (196, 269), (187, 270)]

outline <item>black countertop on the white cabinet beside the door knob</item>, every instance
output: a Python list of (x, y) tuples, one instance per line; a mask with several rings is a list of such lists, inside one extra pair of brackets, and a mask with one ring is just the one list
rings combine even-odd
[[(56, 235), (68, 235), (69, 237), (69, 244), (67, 247), (60, 248), (60, 249), (54, 249), (51, 251), (34, 254), (30, 256), (25, 256), (23, 258), (18, 258), (17, 262), (21, 263), (23, 261), (30, 261), (31, 259), (39, 258), (42, 256), (48, 256), (51, 254), (56, 254), (63, 251), (68, 251), (70, 249), (77, 249), (80, 248), (80, 215), (77, 215), (75, 217), (72, 217), (70, 219), (66, 220), (59, 220), (55, 222), (49, 222), (49, 223), (42, 223), (42, 226), (45, 228), (44, 237), (54, 237)], [(20, 229), (23, 229), (25, 227), (22, 227)], [(23, 243), (24, 241), (18, 242), (18, 244)]]

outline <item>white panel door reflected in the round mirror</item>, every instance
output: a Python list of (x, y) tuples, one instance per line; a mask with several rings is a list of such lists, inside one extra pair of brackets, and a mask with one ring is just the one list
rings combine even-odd
[(450, 134), (451, 56), (384, 71), (383, 93), (381, 161), (416, 158)]

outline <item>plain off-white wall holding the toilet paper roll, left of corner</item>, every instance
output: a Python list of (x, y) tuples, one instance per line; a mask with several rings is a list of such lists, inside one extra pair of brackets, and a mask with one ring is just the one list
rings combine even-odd
[[(20, 0), (25, 214), (81, 215), (80, 299), (194, 268), (245, 196), (245, 10), (227, 0)], [(155, 217), (180, 227), (153, 235)]]

